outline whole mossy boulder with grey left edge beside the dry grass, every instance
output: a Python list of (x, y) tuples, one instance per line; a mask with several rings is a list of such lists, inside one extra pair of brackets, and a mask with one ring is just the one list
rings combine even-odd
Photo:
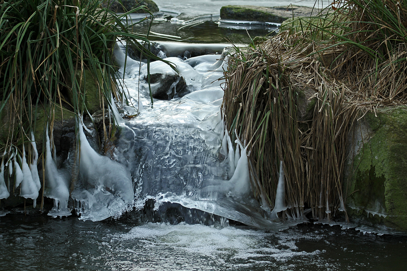
[(407, 106), (376, 115), (367, 113), (350, 133), (354, 140), (344, 178), (348, 215), (407, 231)]

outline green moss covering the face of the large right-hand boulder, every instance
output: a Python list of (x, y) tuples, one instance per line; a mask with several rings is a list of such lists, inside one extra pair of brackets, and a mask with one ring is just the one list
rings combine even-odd
[[(407, 230), (407, 110), (367, 113), (365, 121), (373, 131), (354, 158), (348, 204), (384, 212), (384, 225)], [(358, 191), (359, 190), (359, 191)], [(375, 216), (376, 217), (376, 216)]]

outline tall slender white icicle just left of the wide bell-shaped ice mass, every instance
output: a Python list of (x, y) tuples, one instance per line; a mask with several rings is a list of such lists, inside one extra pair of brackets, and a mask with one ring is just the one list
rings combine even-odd
[(58, 171), (57, 165), (51, 156), (50, 138), (48, 136), (48, 126), (46, 130), (46, 142), (45, 142), (45, 176), (47, 180), (47, 187), (44, 191), (44, 196), (56, 199), (59, 201), (56, 208), (53, 208), (48, 215), (52, 216), (68, 216), (71, 212), (68, 211), (68, 180)]

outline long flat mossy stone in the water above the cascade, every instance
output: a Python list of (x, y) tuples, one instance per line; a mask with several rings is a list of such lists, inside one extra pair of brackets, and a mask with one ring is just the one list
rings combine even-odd
[(221, 8), (221, 19), (223, 20), (245, 20), (255, 22), (282, 23), (290, 17), (316, 15), (317, 9), (302, 6), (289, 7), (258, 7), (228, 5)]

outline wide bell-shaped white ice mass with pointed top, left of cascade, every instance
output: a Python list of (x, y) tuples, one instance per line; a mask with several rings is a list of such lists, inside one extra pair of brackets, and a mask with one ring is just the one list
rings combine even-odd
[(79, 175), (82, 186), (72, 192), (81, 219), (99, 221), (111, 217), (133, 201), (129, 171), (120, 163), (95, 152), (79, 128)]

